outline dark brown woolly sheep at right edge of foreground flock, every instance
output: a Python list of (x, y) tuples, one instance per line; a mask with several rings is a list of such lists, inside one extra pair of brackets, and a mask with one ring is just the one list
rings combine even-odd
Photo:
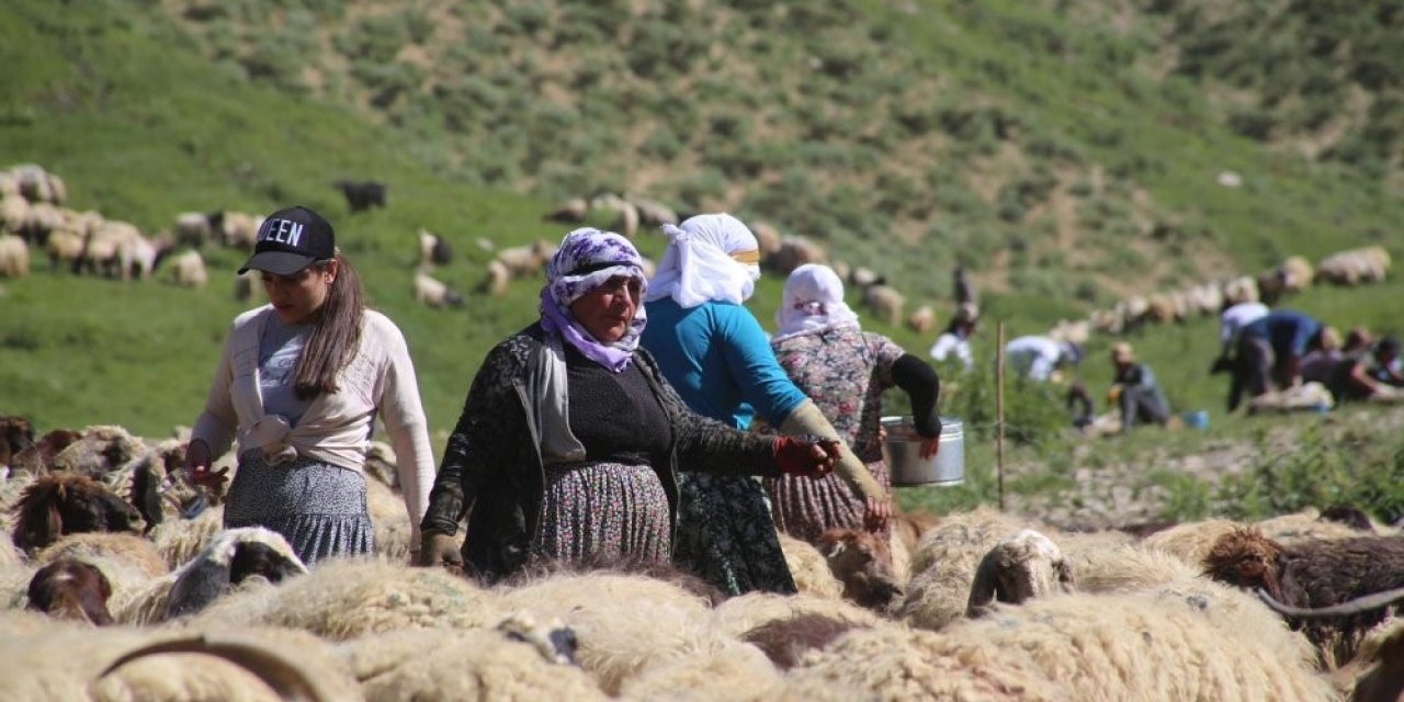
[[(1286, 607), (1323, 608), (1404, 587), (1404, 539), (1356, 536), (1283, 545), (1248, 526), (1220, 536), (1203, 567), (1220, 583), (1264, 590)], [(1349, 660), (1360, 635), (1383, 618), (1375, 611), (1311, 623), (1307, 637), (1335, 660)]]

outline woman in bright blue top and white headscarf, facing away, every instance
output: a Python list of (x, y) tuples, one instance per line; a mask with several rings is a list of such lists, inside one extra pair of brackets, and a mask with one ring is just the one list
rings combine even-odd
[[(761, 275), (755, 234), (731, 215), (664, 226), (668, 249), (644, 295), (643, 345), (699, 414), (736, 428), (762, 417), (783, 434), (838, 438), (819, 407), (775, 362), (746, 302)], [(887, 494), (844, 446), (838, 473), (886, 521)], [(729, 594), (793, 592), (761, 486), (747, 477), (685, 475), (674, 560)]]

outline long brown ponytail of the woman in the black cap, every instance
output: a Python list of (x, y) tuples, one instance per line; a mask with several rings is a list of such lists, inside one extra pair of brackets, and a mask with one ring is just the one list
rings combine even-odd
[[(337, 392), (337, 373), (361, 347), (361, 317), (365, 312), (361, 275), (340, 249), (333, 260), (337, 261), (337, 278), (327, 289), (327, 299), (312, 323), (312, 334), (307, 336), (302, 358), (292, 373), (293, 390), (302, 400)], [(330, 264), (331, 261), (320, 261), (313, 265), (324, 271)]]

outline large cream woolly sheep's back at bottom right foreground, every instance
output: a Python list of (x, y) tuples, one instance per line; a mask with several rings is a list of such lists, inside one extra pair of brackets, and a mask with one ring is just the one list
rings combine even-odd
[(851, 632), (792, 675), (885, 698), (1334, 699), (1300, 636), (1212, 583), (1035, 600), (939, 633)]

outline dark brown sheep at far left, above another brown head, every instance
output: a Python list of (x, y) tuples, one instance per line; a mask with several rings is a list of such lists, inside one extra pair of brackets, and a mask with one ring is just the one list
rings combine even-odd
[(135, 532), (142, 515), (102, 483), (79, 475), (41, 476), (15, 504), (14, 545), (32, 553), (65, 534)]

